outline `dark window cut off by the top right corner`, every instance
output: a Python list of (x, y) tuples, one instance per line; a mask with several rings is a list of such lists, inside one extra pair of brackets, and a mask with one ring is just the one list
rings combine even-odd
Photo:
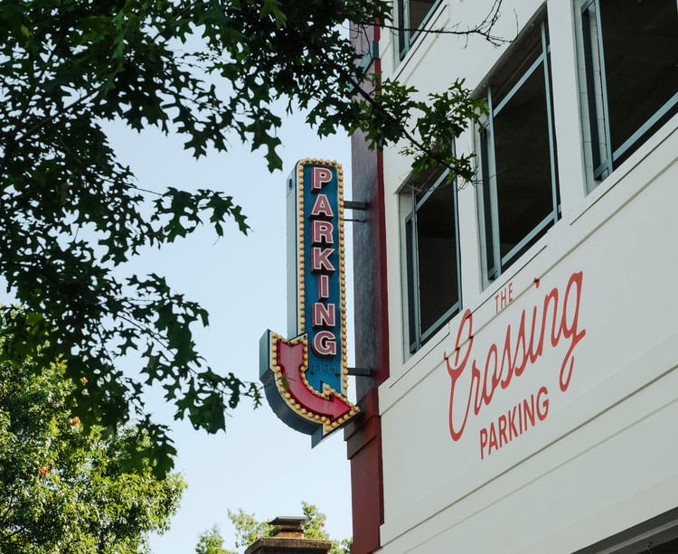
[(587, 0), (581, 26), (587, 154), (599, 182), (678, 110), (678, 7), (676, 0)]

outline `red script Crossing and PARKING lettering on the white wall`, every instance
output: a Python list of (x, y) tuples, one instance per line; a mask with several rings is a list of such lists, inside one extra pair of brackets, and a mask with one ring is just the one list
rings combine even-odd
[[(563, 290), (551, 289), (541, 303), (523, 308), (520, 320), (506, 325), (504, 340), (491, 343), (486, 352), (476, 352), (473, 313), (466, 310), (457, 331), (455, 351), (445, 356), (451, 380), (449, 396), (449, 433), (458, 441), (469, 417), (480, 416), (494, 396), (509, 390), (535, 365), (545, 349), (565, 343), (558, 384), (565, 392), (570, 386), (575, 363), (575, 349), (586, 335), (579, 324), (579, 304), (583, 272), (573, 273)], [(539, 280), (535, 279), (539, 287)], [(555, 370), (555, 368), (554, 368)], [(480, 429), (480, 457), (491, 455), (543, 421), (549, 413), (549, 390), (541, 386), (509, 408), (507, 412)]]

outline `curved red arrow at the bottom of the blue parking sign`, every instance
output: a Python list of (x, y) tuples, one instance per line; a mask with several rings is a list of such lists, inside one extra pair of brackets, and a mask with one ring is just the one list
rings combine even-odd
[(289, 394), (302, 408), (313, 414), (325, 416), (333, 421), (341, 418), (351, 411), (351, 404), (335, 392), (331, 392), (329, 398), (325, 398), (306, 386), (303, 377), (303, 372), (306, 371), (304, 351), (304, 343), (289, 344), (278, 340), (278, 366), (287, 380)]

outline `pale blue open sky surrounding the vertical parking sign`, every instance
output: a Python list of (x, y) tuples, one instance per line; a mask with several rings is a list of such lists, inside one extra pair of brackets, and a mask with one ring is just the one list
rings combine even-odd
[[(210, 313), (210, 326), (196, 330), (196, 343), (214, 371), (233, 371), (242, 380), (259, 380), (259, 338), (267, 330), (287, 333), (286, 179), (297, 160), (335, 159), (344, 166), (345, 197), (350, 193), (350, 147), (346, 136), (321, 141), (303, 117), (290, 117), (280, 132), (283, 171), (269, 174), (260, 152), (232, 145), (227, 154), (211, 153), (195, 161), (176, 137), (155, 130), (138, 134), (111, 127), (111, 141), (121, 162), (129, 164), (139, 186), (161, 191), (213, 188), (231, 194), (248, 216), (251, 230), (240, 234), (233, 223), (224, 237), (205, 229), (177, 244), (151, 250), (133, 261), (137, 273), (165, 275), (174, 290), (199, 302)], [(352, 282), (351, 223), (347, 232), (347, 282)], [(351, 290), (349, 366), (353, 363)], [(349, 381), (353, 398), (353, 378)], [(269, 521), (303, 515), (301, 502), (315, 504), (327, 516), (334, 539), (351, 536), (349, 463), (343, 432), (311, 448), (311, 438), (293, 431), (268, 407), (253, 409), (249, 399), (227, 416), (226, 432), (207, 435), (185, 421), (174, 421), (174, 408), (162, 395), (148, 399), (155, 419), (171, 425), (178, 450), (175, 468), (188, 488), (171, 530), (151, 538), (160, 553), (193, 552), (202, 531), (218, 524), (225, 547), (234, 548), (227, 510), (243, 509)]]

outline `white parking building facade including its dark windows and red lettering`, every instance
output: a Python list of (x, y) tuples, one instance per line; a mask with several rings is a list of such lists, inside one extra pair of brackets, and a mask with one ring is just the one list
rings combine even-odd
[[(354, 514), (381, 494), (378, 545), (359, 522), (354, 550), (676, 552), (676, 1), (504, 0), (499, 47), (416, 31), (492, 6), (396, 0), (376, 35), (383, 78), (422, 98), (462, 78), (488, 113), (454, 145), (473, 182), (415, 181), (391, 148), (381, 190), (354, 190), (381, 214), (388, 337), (377, 392), (358, 386), (378, 447), (361, 460), (346, 432)], [(366, 459), (381, 483), (361, 493)]]

